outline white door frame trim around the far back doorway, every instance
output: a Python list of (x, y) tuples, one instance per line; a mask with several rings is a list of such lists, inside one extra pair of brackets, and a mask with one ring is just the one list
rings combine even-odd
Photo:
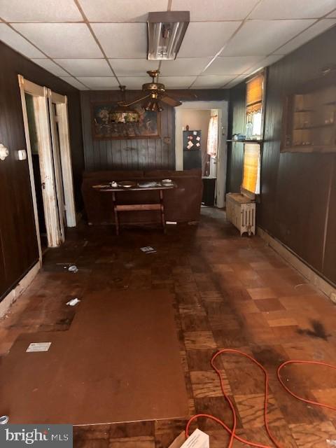
[[(216, 207), (225, 207), (226, 169), (228, 163), (228, 101), (193, 101), (183, 102), (175, 108), (175, 169), (183, 170), (183, 123), (182, 110), (210, 110), (218, 111), (218, 152), (217, 152), (217, 180), (216, 180)], [(219, 174), (219, 176), (218, 176)]]

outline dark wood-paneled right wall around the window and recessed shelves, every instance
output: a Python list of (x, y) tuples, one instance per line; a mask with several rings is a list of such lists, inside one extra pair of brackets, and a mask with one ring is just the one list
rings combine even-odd
[[(336, 154), (280, 153), (280, 140), (284, 98), (321, 76), (325, 66), (335, 66), (335, 41), (333, 27), (268, 69), (262, 193), (257, 206), (258, 225), (332, 283), (336, 283)], [(230, 99), (232, 133), (244, 132), (244, 85), (233, 88)], [(235, 144), (228, 168), (232, 191), (238, 191), (241, 183), (241, 155), (241, 145)]]

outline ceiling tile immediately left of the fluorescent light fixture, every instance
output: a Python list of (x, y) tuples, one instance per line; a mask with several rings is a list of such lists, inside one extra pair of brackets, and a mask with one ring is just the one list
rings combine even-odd
[(145, 23), (92, 23), (107, 57), (147, 57), (147, 26)]

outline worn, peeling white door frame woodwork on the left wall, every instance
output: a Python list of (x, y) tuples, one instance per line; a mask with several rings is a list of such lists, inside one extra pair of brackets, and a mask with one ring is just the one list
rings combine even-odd
[[(34, 181), (34, 169), (31, 155), (25, 94), (28, 93), (34, 97), (33, 103), (34, 103), (34, 113), (36, 120), (36, 132), (38, 137), (38, 148), (39, 150), (41, 150), (38, 156), (40, 162), (41, 183), (43, 185), (42, 188), (43, 209), (45, 214), (45, 228), (47, 230), (48, 247), (57, 247), (64, 241), (64, 231), (62, 232), (61, 230), (62, 224), (59, 222), (59, 205), (57, 204), (57, 190), (56, 190), (57, 186), (55, 182), (55, 172), (54, 172), (54, 169), (57, 169), (57, 166), (55, 166), (54, 168), (52, 138), (50, 137), (52, 132), (50, 126), (50, 104), (52, 102), (52, 95), (54, 95), (53, 98), (55, 99), (57, 106), (59, 106), (58, 110), (61, 122), (59, 125), (60, 141), (62, 134), (62, 147), (61, 142), (59, 143), (61, 160), (62, 159), (64, 160), (63, 162), (64, 165), (67, 165), (68, 161), (70, 164), (69, 167), (64, 167), (63, 177), (59, 173), (61, 179), (63, 179), (64, 192), (65, 190), (67, 192), (66, 205), (69, 204), (69, 211), (66, 211), (66, 223), (69, 227), (76, 226), (76, 212), (74, 208), (73, 180), (71, 170), (71, 154), (70, 154), (71, 149), (69, 144), (69, 121), (67, 116), (67, 100), (66, 97), (63, 97), (62, 95), (54, 94), (53, 92), (51, 92), (50, 89), (47, 89), (47, 87), (31, 83), (31, 81), (25, 79), (22, 75), (18, 75), (18, 80), (19, 80), (20, 96), (22, 103), (23, 123), (25, 127), (27, 160), (29, 165), (29, 176), (31, 183), (31, 195), (33, 200), (36, 237), (38, 241), (38, 254), (41, 263), (42, 261), (41, 236), (38, 225), (38, 210), (37, 210), (36, 189), (35, 189), (36, 185)], [(55, 95), (57, 96), (55, 97)], [(64, 155), (62, 154), (63, 151)], [(72, 194), (72, 200), (69, 197), (71, 194)]]

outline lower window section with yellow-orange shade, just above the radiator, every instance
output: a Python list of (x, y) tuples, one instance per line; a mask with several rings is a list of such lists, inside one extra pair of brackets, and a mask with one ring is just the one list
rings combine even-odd
[(244, 173), (242, 190), (260, 195), (260, 144), (244, 145)]

